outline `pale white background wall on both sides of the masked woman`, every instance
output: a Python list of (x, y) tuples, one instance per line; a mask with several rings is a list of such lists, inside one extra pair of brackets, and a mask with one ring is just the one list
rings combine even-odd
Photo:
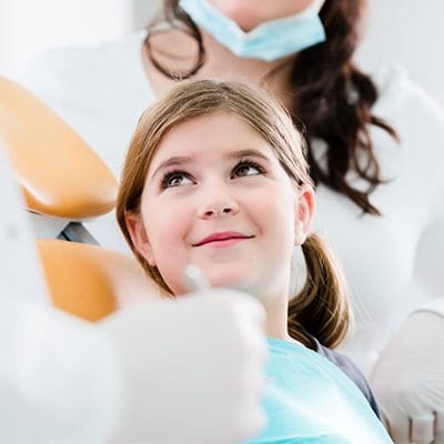
[[(375, 70), (402, 63), (444, 104), (444, 0), (369, 3), (360, 64)], [(0, 73), (13, 77), (53, 46), (113, 39), (140, 29), (160, 6), (161, 0), (0, 0)]]

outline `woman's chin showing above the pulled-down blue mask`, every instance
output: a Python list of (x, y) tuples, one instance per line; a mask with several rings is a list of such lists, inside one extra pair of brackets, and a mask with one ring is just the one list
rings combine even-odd
[(244, 31), (258, 24), (293, 16), (306, 9), (314, 0), (209, 0), (224, 16), (234, 20)]

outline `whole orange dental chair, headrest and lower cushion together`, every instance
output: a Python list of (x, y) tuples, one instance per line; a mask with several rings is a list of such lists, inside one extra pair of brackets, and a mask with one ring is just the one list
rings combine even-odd
[(81, 223), (113, 209), (118, 184), (111, 171), (48, 107), (4, 78), (0, 139), (33, 222), (53, 304), (98, 321), (158, 299), (159, 290), (135, 259), (97, 245)]

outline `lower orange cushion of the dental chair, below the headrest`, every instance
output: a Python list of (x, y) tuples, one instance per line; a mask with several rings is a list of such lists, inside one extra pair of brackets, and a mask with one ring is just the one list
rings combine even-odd
[(79, 242), (37, 241), (53, 304), (87, 321), (159, 293), (130, 255)]

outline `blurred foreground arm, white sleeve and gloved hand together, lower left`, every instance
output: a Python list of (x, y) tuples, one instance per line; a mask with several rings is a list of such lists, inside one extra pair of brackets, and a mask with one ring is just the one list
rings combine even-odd
[(249, 295), (145, 303), (99, 324), (4, 300), (2, 443), (236, 443), (264, 424), (263, 313)]

